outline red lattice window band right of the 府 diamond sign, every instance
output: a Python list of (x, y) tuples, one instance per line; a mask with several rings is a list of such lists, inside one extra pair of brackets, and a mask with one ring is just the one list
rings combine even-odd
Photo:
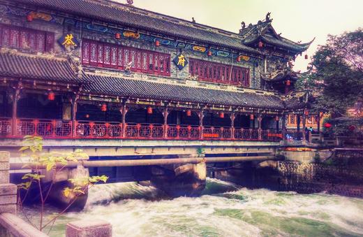
[[(232, 70), (232, 73), (231, 73)], [(249, 69), (242, 66), (218, 64), (200, 59), (189, 59), (189, 73), (199, 80), (249, 87)]]

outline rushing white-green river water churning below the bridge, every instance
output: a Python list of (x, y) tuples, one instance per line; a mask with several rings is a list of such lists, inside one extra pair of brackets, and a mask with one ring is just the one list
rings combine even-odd
[(251, 190), (216, 179), (197, 198), (165, 199), (133, 182), (98, 185), (86, 208), (59, 218), (50, 236), (64, 236), (67, 222), (93, 219), (111, 222), (114, 236), (363, 236), (363, 199)]

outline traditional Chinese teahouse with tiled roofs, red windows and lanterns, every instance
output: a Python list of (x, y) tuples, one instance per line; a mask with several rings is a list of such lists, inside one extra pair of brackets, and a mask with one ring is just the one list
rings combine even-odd
[(287, 115), (305, 120), (289, 62), (310, 43), (269, 14), (237, 33), (107, 0), (0, 14), (2, 138), (279, 141)]

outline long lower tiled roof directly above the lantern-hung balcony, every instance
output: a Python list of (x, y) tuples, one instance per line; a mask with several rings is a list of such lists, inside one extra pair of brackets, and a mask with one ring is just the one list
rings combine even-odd
[(143, 99), (165, 99), (224, 106), (283, 109), (279, 96), (251, 92), (232, 92), (186, 85), (166, 84), (147, 80), (115, 78), (111, 76), (85, 76), (91, 82), (84, 89), (96, 94), (133, 96)]

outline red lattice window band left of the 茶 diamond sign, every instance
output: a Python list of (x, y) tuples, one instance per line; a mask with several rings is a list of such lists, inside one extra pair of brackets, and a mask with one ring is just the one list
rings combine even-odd
[(50, 52), (54, 49), (54, 32), (0, 24), (0, 45), (36, 52)]

